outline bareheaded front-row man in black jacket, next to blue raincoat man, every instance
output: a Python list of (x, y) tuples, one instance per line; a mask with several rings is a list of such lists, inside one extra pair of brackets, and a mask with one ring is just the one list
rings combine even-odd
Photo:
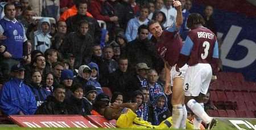
[(64, 102), (65, 87), (59, 85), (54, 87), (52, 95), (49, 95), (36, 114), (44, 115), (68, 115), (68, 105)]

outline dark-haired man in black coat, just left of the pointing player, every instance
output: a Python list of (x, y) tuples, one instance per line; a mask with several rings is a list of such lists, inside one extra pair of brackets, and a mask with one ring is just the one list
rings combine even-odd
[(146, 25), (139, 26), (138, 38), (128, 43), (127, 57), (131, 68), (135, 69), (138, 63), (144, 62), (150, 68), (155, 68), (160, 58), (155, 51), (154, 44), (147, 39), (149, 34)]

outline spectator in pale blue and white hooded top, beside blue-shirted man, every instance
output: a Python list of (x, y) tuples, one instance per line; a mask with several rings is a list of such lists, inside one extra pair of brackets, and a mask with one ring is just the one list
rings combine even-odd
[(51, 23), (48, 18), (40, 19), (38, 24), (38, 31), (34, 32), (34, 44), (35, 49), (40, 50), (41, 52), (45, 52), (46, 49), (51, 47)]

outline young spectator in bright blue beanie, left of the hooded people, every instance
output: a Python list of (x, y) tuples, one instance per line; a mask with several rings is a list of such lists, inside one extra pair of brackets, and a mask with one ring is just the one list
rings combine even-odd
[(60, 82), (66, 89), (65, 99), (70, 98), (72, 95), (71, 89), (72, 89), (73, 77), (74, 77), (74, 74), (70, 69), (64, 69), (61, 72)]

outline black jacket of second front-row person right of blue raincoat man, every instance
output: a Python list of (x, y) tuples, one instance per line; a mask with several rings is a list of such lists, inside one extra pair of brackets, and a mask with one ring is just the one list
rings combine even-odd
[(92, 111), (92, 105), (88, 104), (87, 99), (77, 99), (73, 95), (67, 99), (68, 106), (72, 106), (68, 108), (68, 114), (71, 115), (91, 115), (90, 111)]

